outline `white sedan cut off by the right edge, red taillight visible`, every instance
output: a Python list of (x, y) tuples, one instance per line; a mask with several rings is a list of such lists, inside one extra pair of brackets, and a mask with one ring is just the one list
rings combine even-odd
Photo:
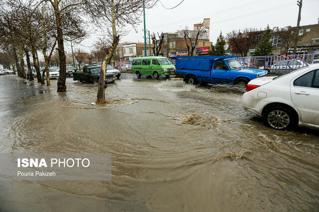
[(319, 129), (319, 65), (253, 79), (246, 91), (242, 98), (244, 109), (263, 116), (268, 127), (288, 130), (299, 125)]

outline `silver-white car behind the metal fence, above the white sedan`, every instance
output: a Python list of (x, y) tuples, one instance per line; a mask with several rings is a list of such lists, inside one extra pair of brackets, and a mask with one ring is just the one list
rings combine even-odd
[(278, 62), (270, 67), (265, 68), (264, 66), (260, 67), (260, 70), (266, 70), (268, 73), (288, 73), (290, 71), (299, 69), (301, 67), (307, 66), (308, 64), (305, 64), (302, 61), (297, 60), (284, 60), (281, 62)]

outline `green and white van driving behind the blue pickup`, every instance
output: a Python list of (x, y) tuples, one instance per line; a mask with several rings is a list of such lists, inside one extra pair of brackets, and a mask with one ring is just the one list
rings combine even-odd
[(153, 75), (159, 78), (160, 75), (169, 77), (175, 75), (175, 66), (165, 57), (141, 57), (134, 58), (132, 62), (132, 73), (137, 77), (142, 75)]

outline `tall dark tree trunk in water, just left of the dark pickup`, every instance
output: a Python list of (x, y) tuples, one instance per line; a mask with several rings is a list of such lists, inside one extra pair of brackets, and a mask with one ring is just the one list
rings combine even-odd
[(54, 0), (54, 14), (56, 20), (56, 31), (57, 31), (57, 42), (58, 42), (58, 54), (59, 54), (59, 64), (60, 64), (60, 74), (58, 78), (58, 89), (57, 92), (66, 91), (66, 59), (64, 54), (64, 44), (63, 44), (63, 32), (62, 32), (62, 20), (59, 12), (59, 0)]

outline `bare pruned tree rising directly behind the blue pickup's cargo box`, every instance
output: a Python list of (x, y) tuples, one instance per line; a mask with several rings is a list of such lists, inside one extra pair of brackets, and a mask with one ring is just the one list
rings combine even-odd
[(188, 56), (193, 56), (197, 46), (198, 39), (206, 32), (206, 29), (197, 27), (195, 31), (191, 31), (188, 30), (188, 27), (186, 26), (185, 29), (183, 29), (182, 31), (184, 34), (185, 44), (188, 50)]

